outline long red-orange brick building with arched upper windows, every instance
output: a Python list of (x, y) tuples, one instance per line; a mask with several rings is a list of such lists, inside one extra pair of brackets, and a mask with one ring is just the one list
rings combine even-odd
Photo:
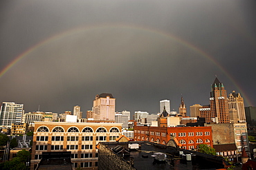
[(176, 137), (183, 149), (194, 149), (199, 144), (213, 147), (212, 127), (134, 127), (134, 140), (165, 145), (170, 136)]

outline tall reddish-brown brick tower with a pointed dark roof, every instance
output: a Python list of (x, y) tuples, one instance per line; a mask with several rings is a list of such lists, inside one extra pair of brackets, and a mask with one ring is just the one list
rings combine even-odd
[(227, 92), (217, 77), (211, 85), (211, 89), (210, 108), (200, 109), (201, 117), (205, 118), (205, 123), (230, 123)]

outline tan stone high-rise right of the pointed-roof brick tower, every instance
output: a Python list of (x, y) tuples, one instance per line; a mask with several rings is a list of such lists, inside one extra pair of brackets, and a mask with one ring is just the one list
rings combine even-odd
[(244, 98), (233, 91), (228, 95), (228, 111), (232, 123), (245, 123), (246, 112), (244, 111)]

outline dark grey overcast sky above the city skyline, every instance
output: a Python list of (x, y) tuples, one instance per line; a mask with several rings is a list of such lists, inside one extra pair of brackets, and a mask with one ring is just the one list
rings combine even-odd
[(106, 92), (152, 114), (182, 95), (190, 112), (217, 75), (256, 106), (255, 17), (255, 0), (1, 0), (0, 101), (85, 113)]

